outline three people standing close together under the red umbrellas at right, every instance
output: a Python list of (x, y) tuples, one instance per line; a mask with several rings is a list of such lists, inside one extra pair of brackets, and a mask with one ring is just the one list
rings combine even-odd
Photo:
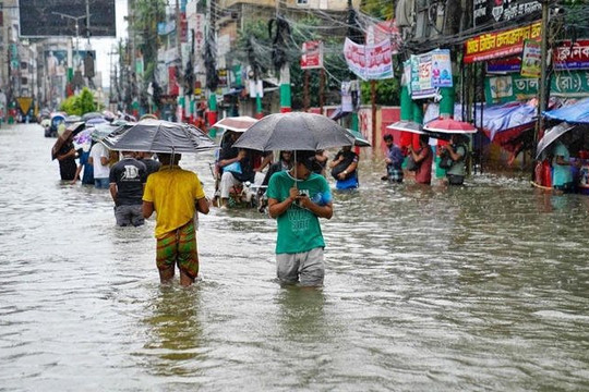
[[(383, 137), (386, 145), (386, 174), (382, 180), (401, 183), (405, 176), (405, 168), (414, 172), (416, 182), (430, 185), (432, 182), (432, 166), (434, 152), (430, 147), (430, 137), (420, 135), (419, 147), (416, 149), (410, 144), (407, 152), (394, 143), (393, 135)], [(448, 185), (462, 185), (466, 175), (466, 158), (468, 154), (467, 137), (453, 134), (448, 144), (440, 148), (440, 167), (446, 170)]]

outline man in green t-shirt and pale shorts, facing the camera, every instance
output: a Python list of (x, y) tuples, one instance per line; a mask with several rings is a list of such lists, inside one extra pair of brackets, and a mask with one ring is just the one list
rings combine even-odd
[(278, 221), (276, 270), (280, 282), (321, 286), (325, 275), (325, 242), (318, 218), (334, 209), (329, 184), (313, 172), (315, 151), (294, 151), (294, 166), (268, 183), (268, 210)]

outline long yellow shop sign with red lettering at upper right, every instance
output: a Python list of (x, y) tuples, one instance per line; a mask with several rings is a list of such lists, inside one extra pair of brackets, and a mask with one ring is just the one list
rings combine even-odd
[(540, 40), (542, 25), (536, 22), (524, 27), (483, 34), (466, 41), (465, 63), (508, 57), (524, 51), (526, 39)]

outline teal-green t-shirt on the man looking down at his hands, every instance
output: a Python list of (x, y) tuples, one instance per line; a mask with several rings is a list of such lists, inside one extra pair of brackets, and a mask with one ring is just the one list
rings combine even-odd
[[(288, 171), (275, 173), (268, 183), (266, 192), (268, 198), (276, 199), (278, 203), (286, 200), (294, 181)], [(322, 175), (311, 173), (306, 180), (298, 180), (297, 187), (318, 205), (332, 201), (329, 184)], [(277, 218), (277, 222), (276, 254), (294, 254), (325, 247), (318, 218), (310, 210), (293, 203), (285, 213)]]

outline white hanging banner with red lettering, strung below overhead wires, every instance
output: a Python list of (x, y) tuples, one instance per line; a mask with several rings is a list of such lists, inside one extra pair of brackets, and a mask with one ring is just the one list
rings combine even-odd
[(376, 45), (358, 45), (346, 38), (344, 57), (350, 71), (363, 81), (393, 77), (390, 39)]

